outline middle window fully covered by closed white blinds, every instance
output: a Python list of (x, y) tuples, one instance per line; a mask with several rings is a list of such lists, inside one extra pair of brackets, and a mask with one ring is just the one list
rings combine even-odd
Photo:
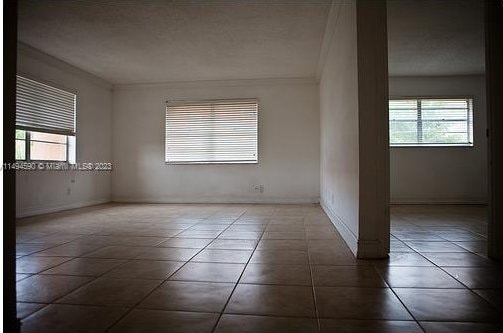
[(166, 163), (257, 163), (256, 100), (168, 102)]

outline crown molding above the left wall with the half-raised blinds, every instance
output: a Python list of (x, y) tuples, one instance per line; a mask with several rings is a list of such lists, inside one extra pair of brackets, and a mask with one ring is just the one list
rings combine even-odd
[(50, 66), (61, 69), (62, 71), (75, 74), (75, 75), (77, 75), (83, 79), (86, 79), (96, 85), (99, 85), (103, 88), (111, 90), (113, 87), (113, 85), (110, 82), (108, 82), (108, 81), (106, 81), (106, 80), (104, 80), (94, 74), (86, 72), (86, 71), (84, 71), (74, 65), (71, 65), (63, 60), (55, 58), (55, 57), (53, 57), (45, 52), (42, 52), (39, 49), (36, 49), (36, 48), (34, 48), (28, 44), (25, 44), (23, 42), (17, 43), (17, 52), (18, 52), (18, 55), (21, 54), (23, 56), (42, 61)]

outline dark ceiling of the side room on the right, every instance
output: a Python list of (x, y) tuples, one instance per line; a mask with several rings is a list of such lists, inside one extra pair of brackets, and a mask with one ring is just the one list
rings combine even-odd
[(389, 0), (390, 75), (484, 72), (484, 1)]

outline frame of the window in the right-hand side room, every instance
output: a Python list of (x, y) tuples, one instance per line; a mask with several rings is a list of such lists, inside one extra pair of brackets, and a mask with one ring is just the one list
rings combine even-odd
[[(428, 95), (422, 95), (422, 96), (390, 96), (388, 98), (388, 127), (390, 124), (389, 120), (389, 115), (390, 115), (390, 110), (389, 110), (389, 102), (390, 101), (396, 101), (396, 100), (416, 100), (418, 104), (420, 104), (421, 100), (446, 100), (446, 99), (451, 99), (451, 100), (470, 100), (471, 104), (471, 109), (468, 109), (468, 112), (471, 111), (471, 114), (468, 115), (468, 119), (471, 116), (471, 139), (472, 142), (468, 143), (421, 143), (421, 142), (415, 142), (415, 143), (391, 143), (391, 138), (388, 139), (389, 141), (389, 147), (390, 148), (474, 148), (475, 147), (475, 119), (474, 119), (474, 109), (475, 109), (475, 98), (473, 95), (435, 95), (435, 96), (428, 96)], [(420, 135), (419, 133), (419, 128), (422, 129), (422, 118), (420, 117), (422, 115), (422, 109), (417, 106), (418, 110), (418, 118), (416, 122), (418, 123), (418, 137)], [(421, 124), (419, 124), (419, 121), (421, 121)], [(388, 135), (391, 134), (391, 130), (388, 128)], [(468, 133), (467, 133), (468, 134)], [(422, 135), (422, 131), (421, 131)], [(417, 140), (419, 141), (419, 140)]]

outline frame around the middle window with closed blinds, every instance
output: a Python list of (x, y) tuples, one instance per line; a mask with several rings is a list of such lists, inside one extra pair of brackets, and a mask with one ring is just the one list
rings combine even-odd
[[(257, 104), (257, 115), (256, 115), (256, 141), (255, 141), (255, 156), (256, 160), (255, 161), (168, 161), (167, 160), (167, 112), (168, 112), (168, 107), (171, 104), (175, 105), (183, 105), (187, 104), (190, 105), (191, 103), (194, 104), (218, 104), (218, 103), (225, 103), (225, 102), (244, 102), (244, 101), (253, 101)], [(219, 99), (199, 99), (199, 100), (166, 100), (165, 102), (165, 107), (164, 107), (164, 164), (165, 165), (258, 165), (259, 164), (259, 127), (260, 127), (260, 100), (255, 97), (243, 97), (243, 98), (219, 98)]]

